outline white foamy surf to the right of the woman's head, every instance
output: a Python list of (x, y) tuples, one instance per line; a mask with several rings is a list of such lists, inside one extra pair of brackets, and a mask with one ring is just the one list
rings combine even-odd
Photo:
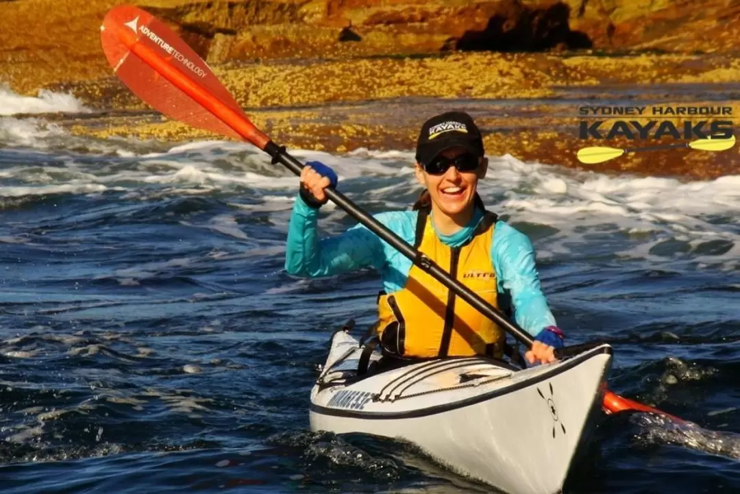
[[(609, 177), (523, 163), (505, 155), (491, 159), (480, 190), (489, 207), (509, 215), (511, 221), (557, 230), (539, 242), (539, 257), (572, 255), (568, 245), (585, 234), (593, 239), (610, 236), (612, 243), (614, 234), (621, 234), (625, 241), (617, 246), (605, 243), (605, 251), (656, 263), (690, 257), (693, 262), (736, 269), (739, 185), (740, 175), (692, 182)], [(671, 242), (673, 247), (668, 247)], [(721, 252), (722, 246), (729, 250)]]

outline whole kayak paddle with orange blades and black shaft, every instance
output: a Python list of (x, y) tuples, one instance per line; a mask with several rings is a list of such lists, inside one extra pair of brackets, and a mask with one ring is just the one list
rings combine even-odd
[[(154, 109), (196, 128), (248, 141), (270, 155), (272, 163), (282, 163), (295, 175), (300, 175), (304, 165), (249, 121), (206, 62), (158, 18), (132, 5), (114, 7), (103, 20), (101, 44), (115, 75)], [(451, 277), (425, 254), (408, 245), (341, 192), (329, 187), (326, 196), (462, 300), (508, 331), (526, 348), (531, 348), (534, 338), (530, 334)], [(556, 356), (562, 359), (599, 345), (588, 343), (560, 348)], [(610, 391), (606, 393), (605, 396), (611, 399), (605, 399), (603, 407), (609, 412), (647, 410), (667, 415)]]

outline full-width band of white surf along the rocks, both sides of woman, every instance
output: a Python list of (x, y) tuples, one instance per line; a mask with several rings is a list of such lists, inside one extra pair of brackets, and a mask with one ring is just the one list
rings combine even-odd
[[(0, 132), (4, 128), (0, 121)], [(12, 128), (19, 132), (19, 126)], [(30, 128), (27, 139), (33, 141), (38, 131)], [(109, 149), (99, 160), (90, 160), (90, 155), (70, 157), (68, 152), (58, 158), (53, 152), (38, 151), (30, 157), (35, 166), (24, 166), (19, 155), (3, 157), (0, 149), (0, 161), (18, 162), (0, 172), (14, 185), (0, 189), (0, 194), (120, 189), (126, 199), (152, 200), (172, 194), (239, 197), (248, 191), (249, 197), (258, 200), (227, 201), (240, 210), (269, 214), (273, 224), (286, 227), (298, 178), (270, 163), (269, 156), (255, 146), (231, 141), (196, 141), (169, 148), (163, 143), (141, 146), (134, 142), (129, 148), (127, 141), (118, 144), (118, 152), (111, 156)], [(44, 153), (55, 164), (36, 166)], [(421, 190), (414, 176), (413, 152), (359, 149), (332, 155), (292, 149), (291, 154), (304, 163), (319, 160), (332, 166), (340, 178), (340, 191), (360, 206), (371, 204), (376, 211), (408, 209)], [(64, 163), (61, 169), (59, 161)], [(656, 263), (691, 260), (728, 270), (740, 268), (740, 175), (703, 181), (614, 177), (504, 155), (490, 157), (480, 194), (489, 209), (510, 223), (550, 227), (535, 240), (542, 259), (578, 255), (579, 249), (573, 246), (588, 242), (594, 246), (585, 249), (588, 255)], [(326, 225), (345, 220), (346, 213), (333, 203), (322, 212)], [(215, 219), (206, 228), (246, 240), (228, 217)]]

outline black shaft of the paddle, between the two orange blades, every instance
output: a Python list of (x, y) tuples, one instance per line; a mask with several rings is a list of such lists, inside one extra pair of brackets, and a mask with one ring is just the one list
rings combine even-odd
[[(304, 166), (303, 163), (300, 163), (300, 161), (298, 161), (296, 158), (293, 158), (291, 155), (289, 155), (289, 153), (286, 152), (285, 148), (277, 146), (277, 144), (270, 141), (265, 146), (264, 151), (272, 156), (273, 163), (282, 163), (290, 171), (294, 172), (295, 175), (300, 175), (300, 171), (303, 169)], [(344, 209), (357, 221), (366, 226), (367, 229), (372, 231), (374, 234), (377, 234), (378, 237), (386, 240), (388, 244), (393, 246), (393, 248), (395, 248), (401, 254), (408, 257), (408, 259), (410, 259), (415, 265), (423, 269), (423, 271), (431, 274), (447, 288), (454, 291), (454, 293), (457, 294), (458, 297), (462, 298), (462, 300), (465, 300), (465, 302), (468, 302), (470, 305), (480, 311), (480, 313), (483, 314), (485, 317), (488, 317), (488, 319), (491, 319), (491, 321), (496, 322), (497, 325), (499, 325), (505, 331), (508, 331), (509, 334), (518, 339), (519, 342), (522, 342), (522, 344), (526, 345), (527, 348), (532, 347), (534, 338), (532, 338), (530, 334), (520, 328), (519, 325), (511, 322), (501, 311), (499, 311), (493, 305), (485, 302), (485, 300), (480, 298), (473, 291), (469, 290), (468, 287), (462, 285), (461, 282), (451, 277), (447, 271), (443, 270), (443, 268), (440, 268), (437, 263), (434, 263), (434, 261), (429, 259), (429, 257), (427, 257), (425, 254), (417, 251), (417, 249), (408, 245), (405, 240), (403, 240), (393, 231), (387, 229), (386, 226), (383, 225), (383, 223), (380, 223), (374, 217), (371, 217), (369, 214), (364, 212), (341, 192), (337, 192), (337, 190), (332, 189), (331, 187), (327, 187), (326, 189), (324, 189), (324, 192), (326, 192), (326, 197), (329, 197), (329, 199), (332, 200), (332, 202), (334, 202), (337, 206), (340, 206), (340, 208)], [(580, 348), (582, 347), (582, 345), (578, 345), (578, 347), (579, 351), (584, 350), (584, 348)], [(576, 347), (573, 348), (575, 349)], [(562, 358), (566, 354), (571, 354), (571, 352), (568, 351), (568, 348), (556, 349), (556, 356), (558, 358)]]

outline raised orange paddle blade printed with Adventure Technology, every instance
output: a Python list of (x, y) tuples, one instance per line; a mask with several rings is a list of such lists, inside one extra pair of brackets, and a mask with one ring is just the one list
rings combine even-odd
[(246, 139), (260, 149), (269, 142), (206, 62), (145, 10), (112, 8), (101, 26), (101, 44), (118, 78), (152, 108), (198, 129)]

